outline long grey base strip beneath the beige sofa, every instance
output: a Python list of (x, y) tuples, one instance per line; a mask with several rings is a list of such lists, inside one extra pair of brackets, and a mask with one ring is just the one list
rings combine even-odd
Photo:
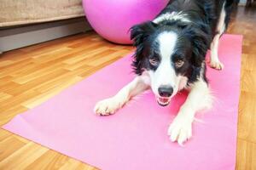
[(62, 24), (48, 24), (53, 26), (43, 25), (9, 28), (2, 30), (2, 33), (0, 30), (0, 54), (1, 51), (5, 52), (91, 30), (90, 25), (84, 19), (72, 22), (66, 21)]

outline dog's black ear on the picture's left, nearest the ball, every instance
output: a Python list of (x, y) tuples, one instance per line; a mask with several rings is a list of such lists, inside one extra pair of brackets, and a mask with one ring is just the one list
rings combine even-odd
[(131, 27), (131, 40), (134, 46), (138, 46), (153, 32), (158, 25), (152, 21), (143, 22), (142, 24)]

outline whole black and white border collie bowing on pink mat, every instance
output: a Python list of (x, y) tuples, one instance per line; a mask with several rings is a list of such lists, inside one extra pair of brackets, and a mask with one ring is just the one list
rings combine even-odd
[(112, 98), (98, 102), (96, 114), (113, 114), (148, 88), (161, 106), (169, 105), (178, 91), (187, 89), (189, 95), (168, 128), (172, 142), (183, 144), (192, 136), (195, 113), (212, 103), (205, 57), (211, 49), (209, 65), (224, 68), (218, 59), (218, 40), (228, 26), (232, 3), (174, 0), (153, 21), (131, 27), (137, 48), (132, 66), (137, 77)]

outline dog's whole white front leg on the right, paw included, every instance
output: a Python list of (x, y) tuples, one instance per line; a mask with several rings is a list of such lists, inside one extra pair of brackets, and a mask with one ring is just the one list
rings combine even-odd
[(183, 144), (192, 136), (192, 122), (197, 111), (210, 107), (212, 104), (211, 94), (207, 82), (199, 80), (191, 87), (188, 98), (181, 106), (177, 116), (168, 129), (168, 135), (172, 142)]

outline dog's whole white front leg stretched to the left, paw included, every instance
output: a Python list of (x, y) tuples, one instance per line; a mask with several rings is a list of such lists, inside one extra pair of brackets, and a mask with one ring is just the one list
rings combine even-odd
[(94, 111), (96, 114), (102, 116), (113, 114), (125, 105), (132, 97), (148, 89), (148, 84), (147, 76), (135, 77), (134, 80), (122, 88), (118, 94), (114, 95), (112, 98), (103, 99), (98, 102)]

